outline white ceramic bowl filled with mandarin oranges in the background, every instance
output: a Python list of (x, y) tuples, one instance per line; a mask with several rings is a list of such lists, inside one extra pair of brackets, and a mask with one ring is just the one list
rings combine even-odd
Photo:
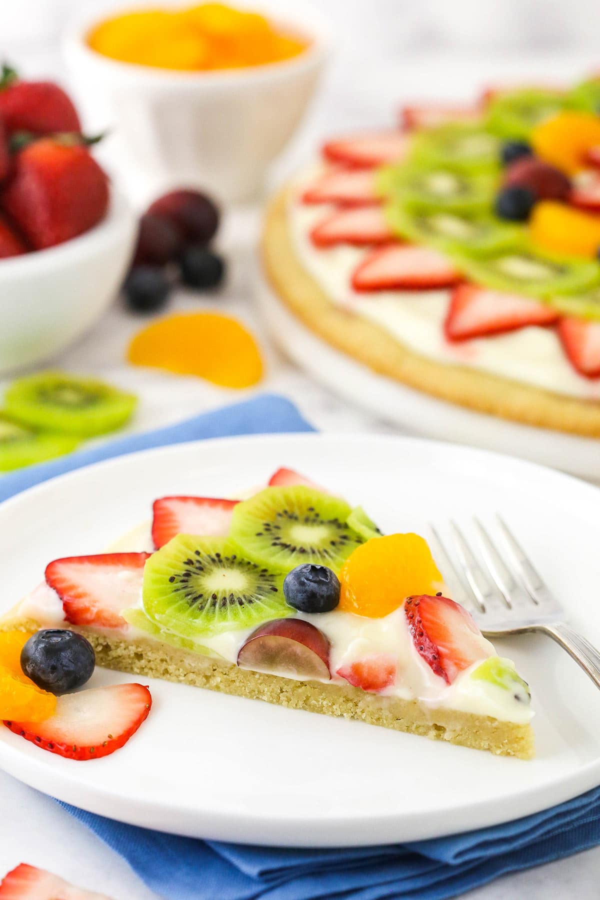
[(274, 0), (270, 9), (268, 0), (248, 5), (306, 36), (309, 47), (259, 67), (177, 72), (118, 62), (88, 47), (91, 26), (127, 0), (103, 4), (102, 12), (96, 6), (67, 29), (65, 58), (82, 103), (87, 95), (88, 103), (95, 97), (102, 104), (153, 184), (203, 187), (221, 201), (251, 199), (299, 124), (329, 54), (327, 26), (304, 7), (283, 16)]

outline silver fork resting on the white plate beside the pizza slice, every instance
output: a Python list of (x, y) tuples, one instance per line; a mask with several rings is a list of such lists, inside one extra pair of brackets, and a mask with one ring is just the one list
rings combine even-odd
[(479, 552), (485, 567), (471, 549), (455, 522), (450, 522), (452, 543), (460, 572), (452, 563), (442, 538), (430, 525), (434, 557), (447, 578), (455, 599), (472, 613), (484, 635), (521, 635), (538, 631), (560, 644), (600, 688), (600, 653), (586, 637), (565, 624), (567, 618), (559, 601), (542, 581), (532, 561), (518, 544), (506, 522), (497, 516), (497, 525), (510, 562), (506, 562), (478, 518), (473, 518)]

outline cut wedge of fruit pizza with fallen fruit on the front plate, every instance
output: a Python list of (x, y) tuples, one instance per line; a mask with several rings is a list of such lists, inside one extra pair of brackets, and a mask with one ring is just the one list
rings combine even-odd
[[(53, 560), (4, 618), (9, 635), (36, 633), (21, 663), (31, 694), (37, 685), (37, 724), (3, 713), (0, 680), (0, 716), (14, 733), (59, 752), (78, 732), (83, 755), (63, 755), (97, 752), (111, 714), (96, 695), (107, 689), (38, 708), (40, 690), (71, 683), (49, 665), (49, 644), (64, 634), (76, 671), (89, 667), (82, 635), (112, 669), (533, 756), (529, 689), (449, 598), (424, 538), (383, 536), (362, 508), (291, 469), (247, 500), (166, 497), (153, 512), (112, 553)], [(75, 699), (84, 695), (94, 709), (85, 729)], [(146, 689), (119, 686), (101, 752), (121, 746), (148, 709)]]

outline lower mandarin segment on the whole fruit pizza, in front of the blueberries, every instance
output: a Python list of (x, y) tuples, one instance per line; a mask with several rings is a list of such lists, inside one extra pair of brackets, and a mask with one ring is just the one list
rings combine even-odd
[(595, 259), (600, 247), (600, 216), (564, 203), (536, 203), (529, 228), (533, 243), (554, 253)]

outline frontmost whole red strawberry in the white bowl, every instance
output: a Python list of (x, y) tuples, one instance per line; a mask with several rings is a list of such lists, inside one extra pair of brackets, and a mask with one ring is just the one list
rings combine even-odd
[(0, 205), (36, 250), (76, 238), (103, 219), (108, 178), (77, 135), (28, 144), (13, 157)]

